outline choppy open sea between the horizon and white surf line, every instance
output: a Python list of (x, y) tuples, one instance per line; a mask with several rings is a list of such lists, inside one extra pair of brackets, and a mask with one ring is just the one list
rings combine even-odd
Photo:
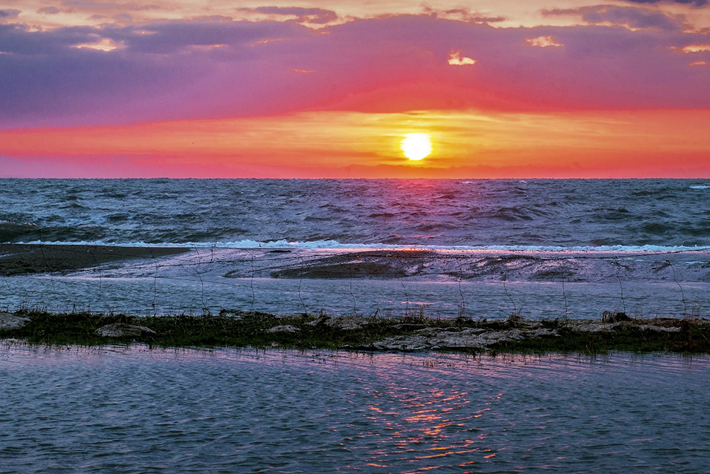
[(0, 242), (710, 247), (710, 180), (0, 180)]

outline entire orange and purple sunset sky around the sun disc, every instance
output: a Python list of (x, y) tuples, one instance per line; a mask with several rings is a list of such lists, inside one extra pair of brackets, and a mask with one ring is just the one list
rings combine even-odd
[(0, 0), (0, 177), (710, 178), (709, 91), (710, 0)]

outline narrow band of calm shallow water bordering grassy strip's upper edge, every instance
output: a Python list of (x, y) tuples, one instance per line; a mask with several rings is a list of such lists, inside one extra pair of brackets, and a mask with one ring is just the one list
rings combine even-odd
[(708, 284), (667, 281), (322, 280), (6, 277), (0, 310), (98, 311), (139, 316), (219, 313), (223, 308), (275, 314), (505, 319), (598, 319), (603, 311), (654, 318), (705, 317)]

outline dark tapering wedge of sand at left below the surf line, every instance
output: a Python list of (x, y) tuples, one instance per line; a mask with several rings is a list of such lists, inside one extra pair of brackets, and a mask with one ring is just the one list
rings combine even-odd
[(68, 272), (111, 262), (182, 254), (185, 247), (109, 247), (66, 244), (0, 244), (0, 275)]

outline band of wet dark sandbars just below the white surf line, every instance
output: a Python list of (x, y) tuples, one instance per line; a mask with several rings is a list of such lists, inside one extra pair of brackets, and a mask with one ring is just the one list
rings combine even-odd
[[(181, 263), (226, 268), (225, 278), (245, 275), (280, 279), (400, 279), (445, 275), (459, 279), (592, 281), (640, 276), (710, 281), (710, 249), (437, 249), (300, 248), (107, 245), (87, 243), (0, 243), (0, 276), (67, 274), (128, 263), (183, 256)], [(205, 259), (205, 255), (209, 258)], [(289, 257), (293, 257), (290, 259)], [(264, 262), (263, 268), (253, 262)], [(246, 265), (244, 265), (246, 262)], [(241, 266), (239, 265), (241, 264)], [(673, 266), (676, 264), (677, 268)], [(683, 268), (687, 266), (687, 268)], [(245, 268), (242, 268), (245, 267)], [(678, 272), (676, 270), (679, 270)], [(684, 275), (687, 274), (687, 275)]]

